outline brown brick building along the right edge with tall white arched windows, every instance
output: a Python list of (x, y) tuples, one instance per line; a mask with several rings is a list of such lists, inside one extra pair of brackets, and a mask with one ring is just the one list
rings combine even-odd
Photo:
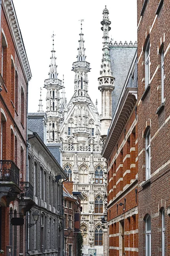
[(139, 256), (169, 256), (170, 1), (137, 3)]

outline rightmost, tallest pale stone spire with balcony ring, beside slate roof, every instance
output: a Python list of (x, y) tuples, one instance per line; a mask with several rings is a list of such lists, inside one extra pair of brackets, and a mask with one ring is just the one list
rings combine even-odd
[(114, 77), (112, 76), (109, 58), (109, 11), (105, 6), (101, 30), (103, 31), (103, 58), (100, 71), (101, 77), (98, 78), (98, 89), (101, 91), (101, 137), (106, 140), (107, 131), (112, 120), (112, 91), (114, 90)]

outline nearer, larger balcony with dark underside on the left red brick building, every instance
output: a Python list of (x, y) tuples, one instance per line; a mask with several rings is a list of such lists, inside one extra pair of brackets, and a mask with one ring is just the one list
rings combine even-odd
[(21, 192), (19, 177), (20, 170), (13, 161), (0, 160), (0, 201), (3, 196), (6, 196), (6, 206), (9, 206), (9, 203), (14, 201)]

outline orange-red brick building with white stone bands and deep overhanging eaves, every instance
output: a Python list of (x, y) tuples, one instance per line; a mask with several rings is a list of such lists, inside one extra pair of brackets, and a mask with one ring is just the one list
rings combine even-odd
[(107, 159), (108, 255), (138, 255), (137, 51), (109, 128)]

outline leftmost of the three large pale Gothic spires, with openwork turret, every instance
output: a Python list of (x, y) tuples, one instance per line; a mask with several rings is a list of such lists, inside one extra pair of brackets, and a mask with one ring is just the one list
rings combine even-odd
[(54, 32), (52, 35), (52, 56), (49, 65), (49, 78), (44, 81), (46, 93), (46, 115), (47, 115), (47, 143), (60, 142), (60, 121), (63, 118), (61, 111), (61, 97), (59, 90), (62, 89), (62, 81), (58, 79), (56, 57), (54, 50)]

